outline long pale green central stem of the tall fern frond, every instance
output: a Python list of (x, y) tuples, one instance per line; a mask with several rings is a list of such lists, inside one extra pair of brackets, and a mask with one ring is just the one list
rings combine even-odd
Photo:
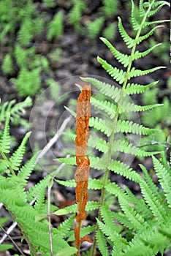
[[(133, 56), (134, 56), (135, 49), (137, 47), (137, 40), (140, 37), (140, 33), (141, 33), (141, 30), (142, 30), (142, 25), (145, 23), (145, 20), (146, 20), (146, 18), (148, 16), (148, 12), (150, 12), (151, 7), (153, 5), (153, 2), (154, 2), (154, 0), (149, 5), (148, 10), (145, 13), (144, 18), (142, 19), (142, 22), (140, 24), (140, 28), (137, 31), (137, 35), (136, 35), (135, 40), (134, 40), (134, 45), (132, 47), (132, 52), (131, 52), (131, 56), (130, 56), (129, 65), (128, 65), (127, 69), (126, 69), (126, 76), (125, 76), (125, 79), (123, 81), (123, 87), (122, 87), (122, 90), (121, 90), (121, 96), (120, 96), (120, 98), (118, 100), (118, 107), (116, 109), (114, 120), (113, 120), (113, 129), (112, 129), (112, 132), (111, 132), (111, 135), (110, 135), (109, 150), (107, 152), (107, 165), (106, 165), (106, 170), (105, 170), (105, 173), (104, 173), (104, 180), (103, 180), (103, 186), (102, 186), (102, 195), (101, 195), (100, 206), (103, 206), (104, 200), (105, 200), (105, 192), (106, 192), (105, 187), (106, 187), (107, 179), (108, 179), (108, 175), (109, 175), (108, 166), (110, 165), (110, 159), (111, 159), (111, 154), (112, 154), (112, 146), (113, 146), (113, 140), (114, 140), (114, 136), (115, 136), (115, 127), (116, 127), (116, 124), (117, 124), (117, 121), (118, 121), (118, 115), (119, 115), (119, 110), (121, 108), (121, 104), (122, 104), (122, 100), (123, 100), (123, 94), (124, 94), (124, 91), (126, 89), (127, 82), (129, 80), (129, 72), (131, 71), (131, 68), (132, 68)], [(132, 4), (134, 4), (134, 3), (132, 2)], [(101, 219), (102, 219), (100, 211), (99, 211), (98, 219), (99, 219), (99, 221), (101, 221)], [(95, 234), (96, 234), (97, 230), (99, 230), (98, 225), (96, 225)], [(93, 244), (92, 249), (91, 249), (91, 256), (94, 256), (95, 254), (96, 254), (96, 237), (94, 238), (94, 244)]]

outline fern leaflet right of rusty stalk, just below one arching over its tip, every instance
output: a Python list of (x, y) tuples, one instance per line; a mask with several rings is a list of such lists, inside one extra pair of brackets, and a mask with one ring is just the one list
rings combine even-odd
[(94, 97), (91, 97), (91, 105), (95, 106), (99, 110), (104, 110), (111, 119), (115, 116), (116, 105), (112, 102), (108, 102), (107, 100), (99, 100)]

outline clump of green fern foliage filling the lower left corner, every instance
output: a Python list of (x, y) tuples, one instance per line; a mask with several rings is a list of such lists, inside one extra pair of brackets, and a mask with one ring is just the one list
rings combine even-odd
[[(4, 203), (7, 210), (17, 219), (18, 226), (23, 231), (32, 255), (41, 253), (42, 255), (50, 255), (50, 241), (48, 239), (49, 230), (47, 217), (47, 207), (45, 207), (45, 189), (48, 181), (52, 178), (50, 175), (28, 189), (26, 192), (26, 184), (28, 178), (34, 170), (37, 155), (33, 156), (28, 162), (22, 165), (24, 152), (26, 151), (26, 143), (30, 132), (23, 138), (20, 146), (13, 152), (10, 151), (10, 135), (9, 135), (9, 113), (7, 113), (4, 125), (4, 131), (0, 136), (0, 193), (1, 203)], [(11, 154), (11, 157), (9, 157)], [(4, 176), (5, 173), (5, 176)], [(36, 200), (34, 206), (28, 202)], [(46, 210), (45, 210), (46, 209)], [(39, 218), (43, 215), (43, 218)], [(77, 250), (64, 240), (70, 236), (69, 231), (75, 216), (67, 219), (62, 225), (56, 229), (52, 229), (53, 236), (53, 254), (54, 255), (73, 255)], [(61, 236), (63, 234), (63, 236)], [(12, 246), (2, 245), (1, 250), (9, 249)]]

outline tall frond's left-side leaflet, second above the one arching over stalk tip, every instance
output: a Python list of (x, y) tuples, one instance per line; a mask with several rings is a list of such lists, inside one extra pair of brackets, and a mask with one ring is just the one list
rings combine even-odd
[(117, 59), (121, 64), (123, 64), (123, 67), (127, 67), (129, 65), (130, 56), (116, 50), (116, 48), (107, 39), (103, 37), (100, 37), (100, 39), (102, 40), (102, 42), (104, 42), (105, 45), (107, 45), (111, 53), (113, 53), (113, 56), (115, 57), (115, 59)]

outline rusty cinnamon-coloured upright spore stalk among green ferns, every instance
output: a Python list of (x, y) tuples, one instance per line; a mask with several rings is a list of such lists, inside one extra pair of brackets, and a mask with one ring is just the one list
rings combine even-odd
[(88, 200), (88, 176), (90, 169), (90, 160), (86, 155), (86, 146), (89, 138), (89, 118), (91, 116), (91, 86), (84, 86), (79, 97), (77, 98), (77, 116), (76, 116), (76, 162), (77, 170), (75, 171), (76, 182), (76, 202), (77, 202), (77, 227), (75, 227), (75, 246), (77, 255), (80, 255), (80, 244), (83, 241), (91, 242), (91, 238), (85, 236), (80, 238), (80, 228), (83, 219), (86, 219), (86, 203)]

